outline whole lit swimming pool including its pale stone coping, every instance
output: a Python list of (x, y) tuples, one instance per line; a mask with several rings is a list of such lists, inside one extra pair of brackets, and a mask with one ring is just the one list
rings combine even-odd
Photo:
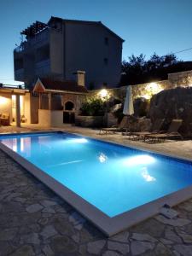
[[(143, 218), (151, 212), (151, 203), (160, 208), (192, 195), (192, 165), (187, 160), (63, 132), (5, 135), (0, 142), (108, 236), (123, 229), (127, 213), (140, 220), (143, 211)], [(152, 210), (149, 215), (158, 212)], [(101, 222), (114, 227), (101, 227)]]

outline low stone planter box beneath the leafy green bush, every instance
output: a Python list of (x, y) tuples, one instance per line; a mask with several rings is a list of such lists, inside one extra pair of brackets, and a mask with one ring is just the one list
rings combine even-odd
[(103, 116), (75, 116), (75, 125), (82, 127), (102, 127)]

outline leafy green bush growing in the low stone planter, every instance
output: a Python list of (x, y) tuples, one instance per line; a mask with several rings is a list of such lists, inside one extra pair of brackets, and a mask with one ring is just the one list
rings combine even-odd
[(80, 108), (81, 115), (104, 115), (105, 112), (105, 103), (102, 102), (102, 99), (92, 98), (87, 102), (83, 102), (82, 107)]

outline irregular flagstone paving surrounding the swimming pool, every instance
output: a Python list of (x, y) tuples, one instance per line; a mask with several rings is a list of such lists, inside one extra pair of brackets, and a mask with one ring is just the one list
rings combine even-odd
[[(0, 132), (39, 127), (0, 127)], [(43, 130), (41, 128), (41, 130)], [(61, 130), (61, 129), (60, 129)], [(121, 135), (67, 125), (65, 131), (190, 158), (192, 143), (144, 144)], [(175, 207), (178, 218), (148, 218), (107, 238), (43, 183), (0, 151), (0, 255), (192, 255), (192, 200)]]

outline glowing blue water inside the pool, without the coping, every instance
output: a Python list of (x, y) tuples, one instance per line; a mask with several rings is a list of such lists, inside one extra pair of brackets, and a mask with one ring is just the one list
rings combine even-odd
[(1, 136), (0, 142), (109, 217), (192, 184), (192, 165), (66, 133)]

